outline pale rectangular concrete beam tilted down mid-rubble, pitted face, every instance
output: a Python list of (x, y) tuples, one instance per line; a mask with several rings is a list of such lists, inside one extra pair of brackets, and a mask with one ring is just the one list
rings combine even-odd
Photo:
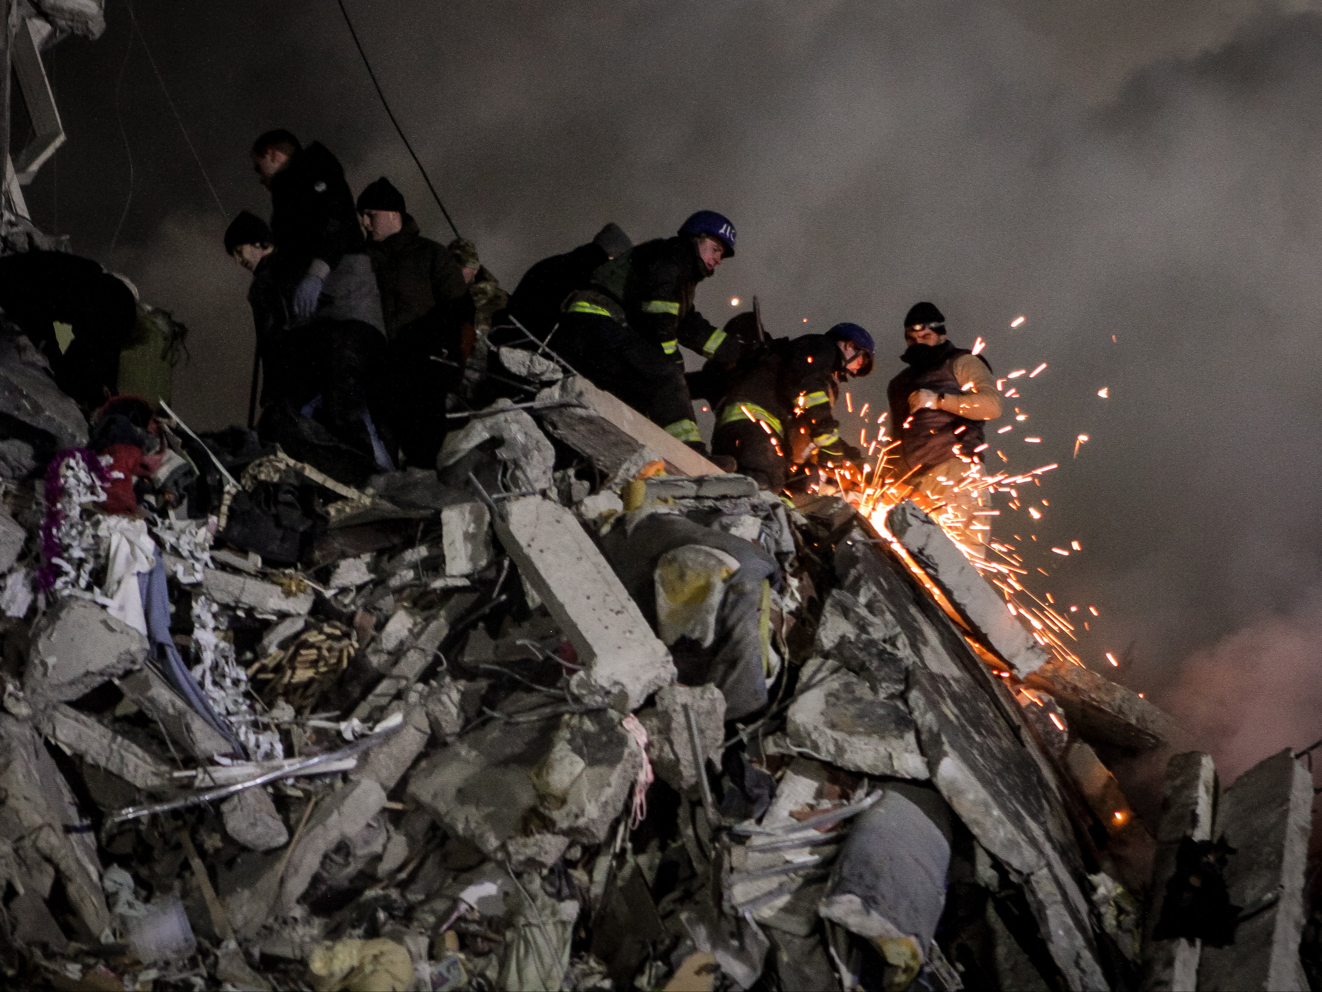
[(674, 681), (670, 652), (570, 511), (526, 496), (509, 500), (494, 524), (520, 575), (578, 651), (575, 692), (600, 692), (632, 710)]

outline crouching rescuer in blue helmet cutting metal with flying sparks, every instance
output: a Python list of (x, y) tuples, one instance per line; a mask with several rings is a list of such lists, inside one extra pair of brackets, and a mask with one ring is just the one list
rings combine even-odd
[(736, 471), (777, 495), (791, 460), (861, 468), (863, 455), (839, 436), (833, 405), (841, 382), (871, 373), (873, 351), (873, 336), (849, 323), (825, 335), (772, 340), (726, 393), (713, 454), (732, 458)]

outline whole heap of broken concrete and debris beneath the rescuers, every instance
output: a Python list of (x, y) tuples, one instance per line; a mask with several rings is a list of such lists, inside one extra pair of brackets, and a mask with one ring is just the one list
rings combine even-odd
[[(13, 347), (7, 983), (1301, 977), (1289, 755), (1219, 804), (1210, 759), (1173, 762), (1154, 839), (1105, 761), (1162, 714), (1048, 661), (923, 513), (787, 505), (539, 356), (490, 361), (508, 395), (452, 414), (436, 471), (349, 485), (168, 406), (89, 427)], [(1214, 839), (1253, 952), (1199, 962), (1162, 901)]]

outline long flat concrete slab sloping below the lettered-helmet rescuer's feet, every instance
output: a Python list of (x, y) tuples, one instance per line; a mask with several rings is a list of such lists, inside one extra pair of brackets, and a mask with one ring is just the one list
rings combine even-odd
[[(662, 427), (652, 423), (652, 421), (621, 399), (598, 389), (580, 376), (567, 376), (557, 385), (543, 389), (537, 394), (539, 403), (547, 399), (570, 399), (587, 405), (591, 407), (592, 414), (596, 414), (598, 418), (608, 422), (631, 438), (635, 444), (657, 452), (657, 456), (666, 463), (666, 471), (672, 475), (720, 475), (720, 470), (697, 451), (666, 434)], [(576, 418), (575, 414), (578, 414)], [(583, 414), (587, 414), (587, 417)], [(621, 444), (617, 436), (611, 438), (612, 433), (605, 431), (586, 410), (564, 407), (561, 410), (547, 410), (542, 417), (551, 434), (572, 447), (578, 448), (582, 444), (583, 448), (587, 448), (584, 454), (605, 448), (615, 448), (616, 452), (620, 452), (624, 447), (629, 447), (628, 444)], [(566, 425), (570, 426), (570, 430), (564, 429)], [(612, 440), (615, 442), (613, 444), (611, 443)], [(631, 454), (636, 454), (636, 451), (637, 448)], [(619, 467), (623, 467), (627, 459), (617, 460), (620, 463)], [(613, 474), (619, 472), (619, 467)]]

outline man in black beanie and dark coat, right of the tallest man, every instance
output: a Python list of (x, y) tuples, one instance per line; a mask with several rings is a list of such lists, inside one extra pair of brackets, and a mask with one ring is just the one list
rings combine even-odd
[(473, 303), (455, 258), (422, 237), (385, 176), (357, 201), (386, 321), (394, 439), (410, 466), (434, 468), (446, 439), (446, 397), (472, 352)]

